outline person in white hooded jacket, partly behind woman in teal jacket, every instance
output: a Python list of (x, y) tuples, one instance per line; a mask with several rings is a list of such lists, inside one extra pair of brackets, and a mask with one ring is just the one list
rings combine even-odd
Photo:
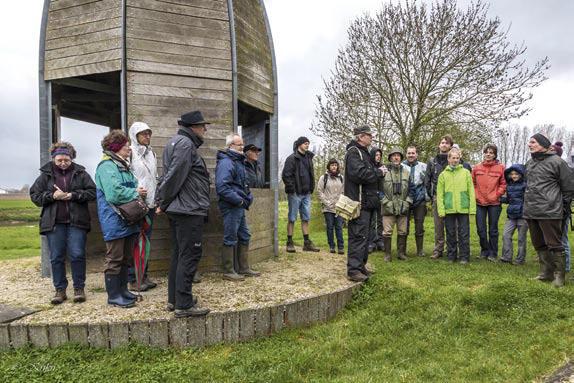
[[(129, 136), (132, 148), (130, 170), (138, 180), (138, 186), (147, 190), (145, 200), (149, 207), (149, 213), (146, 217), (146, 237), (149, 240), (155, 216), (155, 192), (157, 188), (157, 160), (150, 145), (152, 130), (145, 122), (134, 122), (130, 127)], [(128, 278), (132, 290), (147, 291), (157, 286), (157, 283), (151, 281), (147, 276), (147, 265), (139, 286), (136, 284), (134, 267), (130, 267)]]

